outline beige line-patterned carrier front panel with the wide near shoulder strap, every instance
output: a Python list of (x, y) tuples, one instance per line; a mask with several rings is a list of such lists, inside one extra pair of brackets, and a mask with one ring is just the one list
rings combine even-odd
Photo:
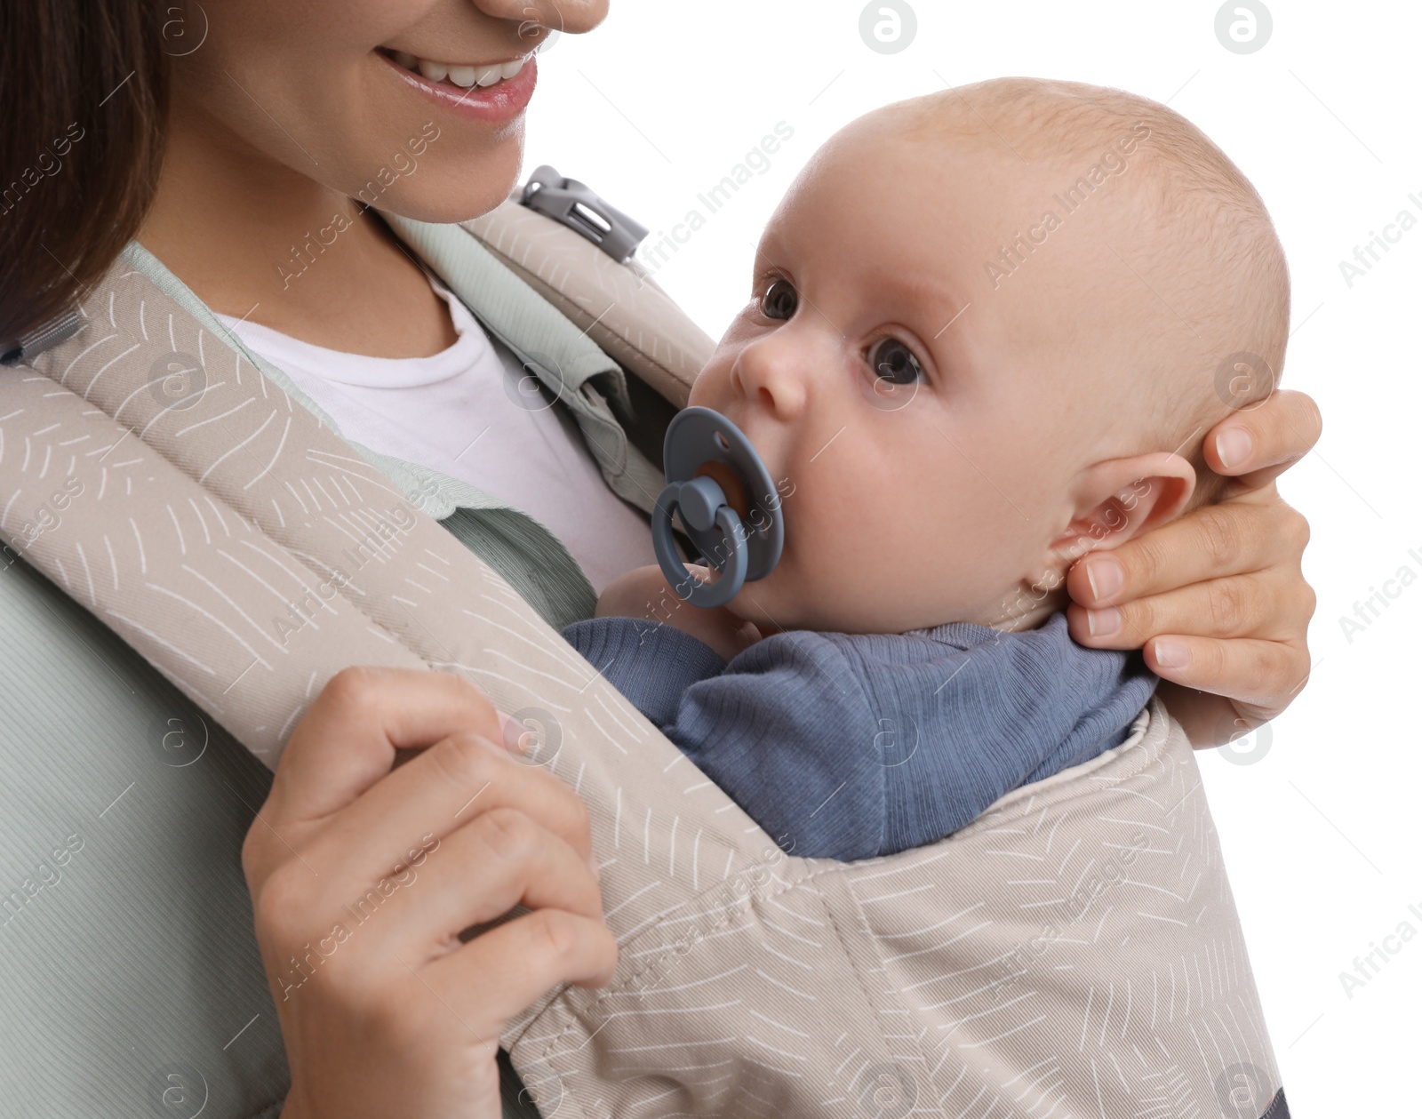
[[(1189, 744), (1163, 708), (957, 836), (781, 856), (407, 495), (115, 267), (82, 330), (0, 370), (0, 533), (276, 762), (343, 665), (536, 708), (587, 802), (611, 987), (505, 1044), (545, 1115), (1190, 1116), (1278, 1088)], [(169, 361), (208, 390), (165, 397)], [(1240, 1071), (1246, 1072), (1241, 1074)], [(1221, 1085), (1224, 1086), (1221, 1089)]]

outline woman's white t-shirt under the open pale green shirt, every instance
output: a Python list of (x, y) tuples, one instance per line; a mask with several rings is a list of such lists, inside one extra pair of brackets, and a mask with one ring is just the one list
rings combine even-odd
[[(577, 422), (431, 277), (459, 340), (431, 357), (347, 354), (219, 314), (243, 344), (286, 373), (346, 438), (482, 489), (563, 542), (600, 594), (656, 563), (651, 529), (607, 488)], [(522, 388), (522, 392), (520, 392)]]

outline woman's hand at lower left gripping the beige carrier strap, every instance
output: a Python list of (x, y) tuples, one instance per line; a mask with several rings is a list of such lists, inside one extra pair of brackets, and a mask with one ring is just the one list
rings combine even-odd
[(242, 849), (283, 1119), (498, 1116), (503, 1022), (611, 977), (583, 805), (501, 738), (472, 684), (392, 668), (337, 674), (292, 734)]

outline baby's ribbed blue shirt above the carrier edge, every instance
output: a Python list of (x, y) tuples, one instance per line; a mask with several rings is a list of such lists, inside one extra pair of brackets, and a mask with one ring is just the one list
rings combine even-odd
[(994, 801), (1119, 745), (1156, 677), (1066, 616), (1003, 633), (792, 630), (729, 663), (671, 626), (563, 637), (785, 850), (867, 859), (951, 835)]

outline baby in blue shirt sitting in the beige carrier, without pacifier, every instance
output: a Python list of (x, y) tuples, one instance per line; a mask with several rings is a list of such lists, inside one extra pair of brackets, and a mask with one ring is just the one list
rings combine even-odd
[(1287, 324), (1263, 202), (1165, 105), (1007, 78), (872, 112), (691, 390), (779, 479), (779, 563), (717, 610), (637, 569), (565, 637), (786, 850), (950, 835), (1129, 735), (1156, 678), (1071, 641), (1065, 572), (1220, 496), (1202, 437)]

